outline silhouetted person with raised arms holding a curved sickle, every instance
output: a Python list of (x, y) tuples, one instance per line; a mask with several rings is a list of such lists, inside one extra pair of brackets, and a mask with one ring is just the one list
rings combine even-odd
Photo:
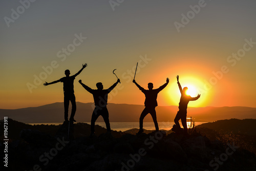
[(116, 87), (118, 82), (120, 82), (120, 79), (118, 79), (113, 86), (111, 86), (109, 89), (103, 90), (103, 85), (101, 82), (96, 83), (97, 90), (93, 90), (82, 83), (82, 80), (78, 81), (84, 89), (86, 89), (89, 93), (93, 94), (93, 99), (95, 103), (95, 108), (92, 114), (91, 119), (91, 137), (95, 134), (94, 133), (94, 126), (95, 121), (98, 119), (98, 117), (101, 115), (104, 119), (104, 122), (106, 124), (106, 130), (108, 132), (111, 132), (110, 129), (110, 121), (109, 121), (109, 111), (106, 109), (106, 105), (108, 104), (108, 94)]

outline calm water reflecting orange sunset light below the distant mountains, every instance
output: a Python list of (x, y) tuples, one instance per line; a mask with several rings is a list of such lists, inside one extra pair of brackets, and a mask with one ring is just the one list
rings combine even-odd
[[(90, 122), (84, 122), (84, 123), (91, 124)], [(207, 123), (207, 122), (195, 122), (195, 125), (200, 125), (203, 123)], [(62, 124), (62, 123), (30, 123), (30, 124), (32, 124), (32, 125), (34, 125), (34, 124), (58, 125), (58, 124)], [(96, 122), (95, 124), (106, 128), (105, 122)], [(158, 122), (159, 130), (170, 130), (170, 129), (172, 129), (174, 124), (175, 124), (174, 122)], [(189, 124), (190, 124), (190, 122), (187, 122), (187, 125), (189, 125)], [(180, 125), (182, 126), (181, 122), (180, 122)], [(111, 126), (111, 130), (123, 132), (123, 131), (131, 130), (134, 128), (139, 129), (139, 122), (110, 122), (110, 126)], [(143, 122), (143, 129), (155, 130), (154, 122)]]

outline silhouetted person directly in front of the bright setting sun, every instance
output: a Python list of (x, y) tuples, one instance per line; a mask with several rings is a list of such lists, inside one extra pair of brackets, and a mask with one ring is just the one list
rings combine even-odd
[(181, 88), (180, 82), (179, 82), (179, 75), (177, 75), (177, 83), (180, 89), (181, 97), (179, 102), (179, 111), (174, 119), (175, 124), (178, 127), (178, 131), (181, 131), (179, 120), (181, 119), (181, 123), (184, 129), (184, 134), (187, 134), (187, 104), (189, 101), (197, 100), (201, 95), (198, 94), (197, 97), (191, 97), (186, 94), (186, 91), (188, 90), (187, 87), (184, 87), (183, 90)]

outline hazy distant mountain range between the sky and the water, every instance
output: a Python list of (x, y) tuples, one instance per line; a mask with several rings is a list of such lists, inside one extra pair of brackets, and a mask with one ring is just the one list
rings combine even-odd
[[(90, 122), (94, 103), (77, 102), (77, 111), (75, 119), (77, 122)], [(137, 122), (140, 114), (144, 109), (143, 105), (136, 104), (115, 104), (109, 103), (110, 122)], [(157, 120), (160, 122), (173, 122), (178, 111), (178, 106), (157, 106)], [(71, 113), (71, 104), (69, 116)], [(63, 102), (42, 105), (33, 108), (23, 109), (0, 109), (0, 117), (8, 116), (14, 120), (24, 123), (57, 123), (64, 120)], [(256, 108), (243, 106), (233, 107), (205, 107), (205, 108), (188, 108), (187, 117), (192, 117), (195, 121), (216, 121), (222, 119), (256, 119)], [(98, 122), (103, 122), (103, 118), (99, 117)], [(148, 114), (144, 121), (153, 121)]]

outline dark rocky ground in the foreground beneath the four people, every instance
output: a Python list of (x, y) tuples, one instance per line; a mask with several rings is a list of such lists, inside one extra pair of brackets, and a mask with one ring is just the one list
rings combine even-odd
[(254, 153), (211, 141), (196, 130), (188, 136), (132, 135), (96, 127), (98, 134), (90, 138), (88, 124), (63, 123), (55, 129), (20, 131), (8, 145), (9, 170), (256, 170)]

